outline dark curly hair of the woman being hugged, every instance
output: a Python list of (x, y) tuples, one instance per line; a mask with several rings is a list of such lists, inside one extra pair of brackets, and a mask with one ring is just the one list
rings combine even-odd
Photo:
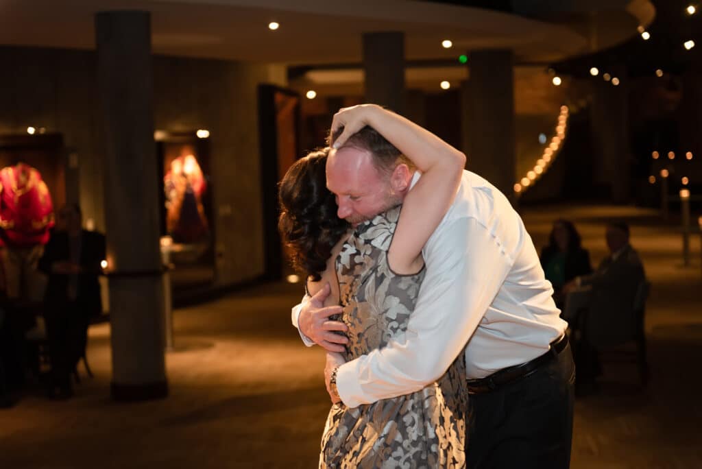
[(329, 147), (311, 152), (290, 167), (278, 186), (278, 230), (296, 270), (321, 279), (331, 250), (348, 230), (336, 216), (334, 194), (326, 188)]

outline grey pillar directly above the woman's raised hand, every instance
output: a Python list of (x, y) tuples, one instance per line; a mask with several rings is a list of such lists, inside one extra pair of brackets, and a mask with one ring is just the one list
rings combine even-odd
[(366, 103), (375, 103), (403, 114), (404, 33), (364, 34), (363, 70)]

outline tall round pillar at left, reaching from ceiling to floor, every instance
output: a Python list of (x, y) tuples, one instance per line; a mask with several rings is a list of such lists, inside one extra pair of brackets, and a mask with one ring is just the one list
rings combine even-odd
[(154, 399), (165, 397), (168, 385), (150, 14), (97, 13), (95, 33), (112, 272), (112, 398)]

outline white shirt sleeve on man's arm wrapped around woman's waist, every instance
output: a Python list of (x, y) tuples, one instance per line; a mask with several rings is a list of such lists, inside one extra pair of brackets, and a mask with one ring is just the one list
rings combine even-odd
[(423, 255), (427, 273), (406, 332), (337, 371), (338, 392), (349, 407), (437, 381), (463, 353), (513, 264), (500, 239), (474, 218), (439, 226)]

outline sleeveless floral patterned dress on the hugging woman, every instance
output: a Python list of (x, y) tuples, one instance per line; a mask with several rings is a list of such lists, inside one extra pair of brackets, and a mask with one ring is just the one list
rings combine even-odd
[[(336, 258), (347, 360), (384, 347), (406, 331), (424, 278), (398, 275), (388, 248), (400, 207), (359, 225)], [(439, 381), (409, 395), (350, 409), (335, 404), (322, 437), (320, 468), (465, 467), (463, 354)]]

